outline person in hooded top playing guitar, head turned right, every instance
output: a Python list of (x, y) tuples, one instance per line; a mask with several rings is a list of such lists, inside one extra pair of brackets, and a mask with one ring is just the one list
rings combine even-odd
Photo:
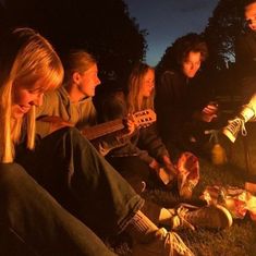
[[(77, 49), (69, 52), (63, 63), (63, 85), (46, 94), (44, 103), (37, 108), (37, 134), (41, 137), (63, 126), (75, 126), (84, 131), (97, 124), (93, 97), (100, 80), (96, 59), (85, 50)], [(124, 120), (124, 134), (132, 133), (133, 129), (133, 122)], [(122, 144), (115, 136), (101, 135), (100, 139), (94, 139), (94, 145), (102, 155)]]

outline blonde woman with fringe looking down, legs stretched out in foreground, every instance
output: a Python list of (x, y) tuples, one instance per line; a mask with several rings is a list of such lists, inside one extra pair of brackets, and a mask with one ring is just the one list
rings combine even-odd
[(141, 212), (143, 199), (77, 130), (62, 129), (35, 146), (35, 108), (62, 82), (62, 65), (31, 28), (1, 42), (0, 232), (8, 241), (0, 254), (114, 255), (94, 232), (126, 229), (136, 241), (133, 255), (192, 255)]

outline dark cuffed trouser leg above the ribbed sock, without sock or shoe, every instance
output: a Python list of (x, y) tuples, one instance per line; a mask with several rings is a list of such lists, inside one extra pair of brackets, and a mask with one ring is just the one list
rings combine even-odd
[(20, 147), (16, 161), (100, 237), (123, 231), (143, 207), (141, 196), (76, 129), (48, 135), (34, 151)]

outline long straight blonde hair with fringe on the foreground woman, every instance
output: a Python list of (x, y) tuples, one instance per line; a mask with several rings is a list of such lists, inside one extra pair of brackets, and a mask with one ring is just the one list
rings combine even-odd
[(37, 82), (44, 92), (58, 87), (63, 78), (61, 61), (52, 46), (32, 28), (17, 28), (0, 45), (0, 162), (12, 162), (14, 145), (19, 143), (23, 121), (26, 121), (27, 147), (35, 144), (35, 106), (23, 119), (12, 118), (13, 85), (28, 89)]

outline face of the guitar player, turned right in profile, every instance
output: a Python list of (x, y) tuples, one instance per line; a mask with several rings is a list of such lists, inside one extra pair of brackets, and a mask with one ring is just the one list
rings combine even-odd
[(76, 84), (78, 90), (85, 96), (95, 96), (95, 88), (97, 85), (100, 84), (97, 64), (94, 64), (90, 69), (88, 69), (82, 74), (76, 74)]

